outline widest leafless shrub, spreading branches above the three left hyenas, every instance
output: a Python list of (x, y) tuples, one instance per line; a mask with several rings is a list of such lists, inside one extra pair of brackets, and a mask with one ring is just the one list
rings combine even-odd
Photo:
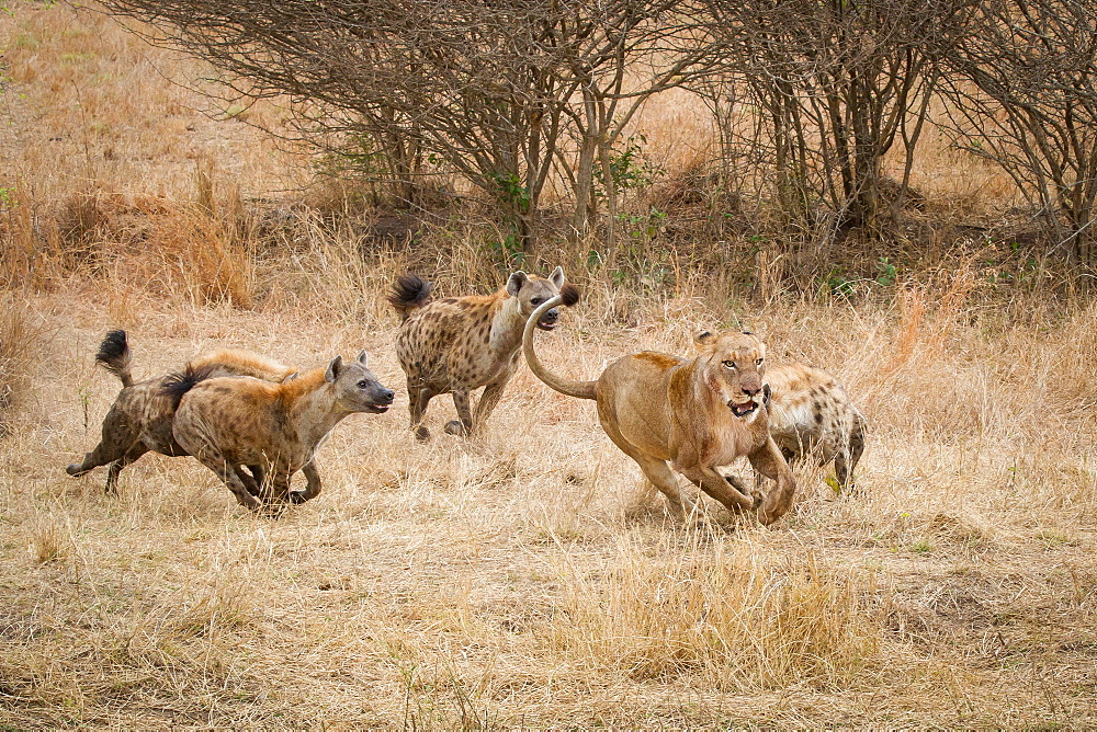
[[(299, 134), (405, 201), (417, 203), (414, 184), (457, 173), (497, 204), (513, 251), (531, 240), (552, 179), (577, 192), (584, 224), (596, 157), (611, 179), (610, 149), (642, 101), (709, 53), (690, 43), (693, 9), (675, 0), (105, 4), (212, 61), (234, 93), (287, 95)], [(626, 88), (626, 69), (646, 70)], [(612, 239), (612, 185), (607, 197)]]

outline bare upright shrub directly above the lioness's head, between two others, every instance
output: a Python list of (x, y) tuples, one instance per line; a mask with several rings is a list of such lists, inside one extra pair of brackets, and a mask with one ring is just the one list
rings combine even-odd
[[(963, 24), (965, 0), (708, 4), (725, 47), (704, 78), (725, 158), (772, 180), (767, 191), (793, 230), (822, 224), (884, 228), (884, 155), (901, 141), (903, 181), (938, 83), (938, 57)], [(743, 114), (756, 110), (756, 114)], [(825, 205), (822, 221), (813, 221)]]

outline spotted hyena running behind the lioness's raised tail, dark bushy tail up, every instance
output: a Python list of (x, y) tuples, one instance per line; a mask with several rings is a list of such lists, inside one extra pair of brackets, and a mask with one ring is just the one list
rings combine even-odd
[[(404, 319), (396, 355), (408, 378), (411, 428), (418, 439), (430, 435), (422, 424), (427, 404), (443, 393), (453, 394), (459, 418), (445, 432), (465, 435), (483, 427), (518, 368), (527, 319), (563, 285), (561, 267), (547, 278), (514, 272), (494, 295), (432, 300), (430, 283), (411, 274), (397, 278), (388, 301)], [(557, 317), (553, 308), (538, 327), (551, 331)], [(477, 387), (484, 387), (484, 393), (474, 416), (468, 392)]]

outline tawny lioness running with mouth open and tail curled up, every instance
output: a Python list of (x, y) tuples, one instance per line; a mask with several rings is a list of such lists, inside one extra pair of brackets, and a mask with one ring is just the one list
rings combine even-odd
[[(527, 321), (522, 346), (536, 377), (561, 393), (593, 399), (606, 434), (640, 465), (675, 514), (692, 510), (693, 502), (679, 491), (670, 467), (732, 511), (757, 507), (765, 525), (780, 518), (792, 505), (796, 484), (769, 434), (762, 342), (747, 332), (702, 331), (692, 359), (642, 351), (611, 363), (596, 381), (573, 381), (541, 364), (533, 331), (547, 310), (577, 300), (578, 290), (565, 285)], [(748, 495), (716, 471), (744, 455), (756, 471), (777, 481), (765, 499)]]

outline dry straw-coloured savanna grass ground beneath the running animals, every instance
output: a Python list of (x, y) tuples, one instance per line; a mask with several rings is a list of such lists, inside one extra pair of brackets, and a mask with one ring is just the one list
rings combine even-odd
[[(94, 14), (10, 11), (0, 728), (1097, 725), (1090, 302), (961, 255), (851, 301), (768, 302), (714, 296), (719, 273), (636, 291), (569, 260), (584, 300), (538, 336), (554, 369), (745, 324), (869, 419), (856, 492), (805, 468), (768, 529), (712, 502), (681, 525), (591, 403), (524, 367), (485, 434), (440, 434), (439, 398), (417, 444), (383, 297), (431, 250), (363, 260), (357, 229), (321, 226), (308, 161), (241, 124), (275, 106), (211, 113), (171, 83), (200, 65)], [(272, 217), (284, 245), (250, 247)], [(423, 272), (446, 295), (501, 283), (473, 242), (449, 251), (467, 258)], [(336, 427), (324, 493), (280, 519), (190, 458), (147, 456), (108, 496), (103, 469), (64, 467), (117, 393), (92, 361), (115, 327), (140, 375), (364, 347), (397, 405)]]

